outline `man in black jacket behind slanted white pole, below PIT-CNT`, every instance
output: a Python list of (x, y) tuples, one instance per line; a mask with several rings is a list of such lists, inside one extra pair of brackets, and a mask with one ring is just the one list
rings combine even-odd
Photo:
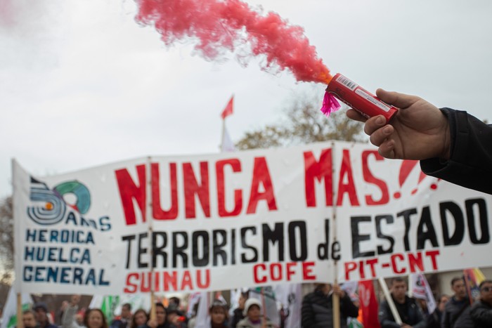
[(379, 318), (381, 328), (424, 328), (426, 324), (424, 315), (422, 315), (422, 310), (420, 310), (415, 299), (411, 299), (406, 295), (407, 284), (405, 280), (401, 277), (393, 278), (390, 291), (391, 299), (396, 306), (402, 324), (396, 323), (388, 301), (384, 300), (380, 303)]

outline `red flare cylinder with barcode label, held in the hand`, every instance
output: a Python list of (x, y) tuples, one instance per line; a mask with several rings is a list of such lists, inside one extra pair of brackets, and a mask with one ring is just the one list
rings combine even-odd
[(356, 84), (354, 81), (347, 79), (342, 74), (338, 73), (328, 84), (326, 92), (332, 93), (343, 103), (346, 103), (354, 110), (357, 110), (363, 116), (369, 118), (376, 115), (383, 115), (386, 122), (389, 122), (398, 108), (383, 103), (379, 98), (364, 88)]

